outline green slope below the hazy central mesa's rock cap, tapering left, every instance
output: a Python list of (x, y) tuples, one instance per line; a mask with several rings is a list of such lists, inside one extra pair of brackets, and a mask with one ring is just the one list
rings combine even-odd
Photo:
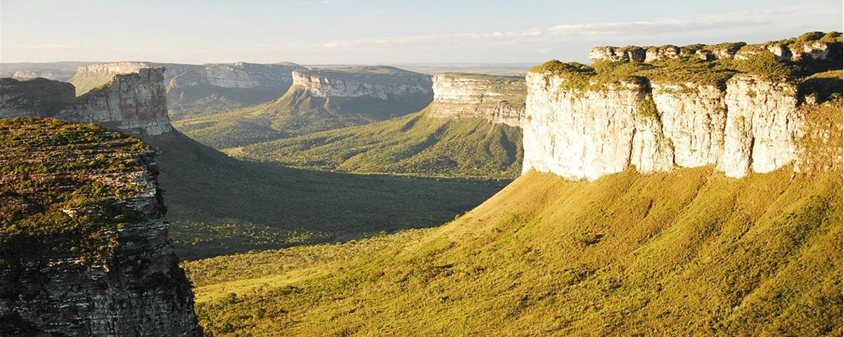
[[(421, 110), (431, 99), (427, 94), (390, 97), (386, 101), (366, 97), (322, 98), (294, 85), (275, 101), (187, 117), (173, 125), (203, 144), (227, 149), (399, 117)], [(232, 126), (237, 126), (235, 131), (220, 133)]]

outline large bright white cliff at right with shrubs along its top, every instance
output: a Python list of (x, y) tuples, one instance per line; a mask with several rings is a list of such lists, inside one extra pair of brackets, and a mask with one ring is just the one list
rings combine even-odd
[[(839, 41), (827, 49), (840, 48)], [(728, 177), (782, 166), (803, 171), (818, 151), (806, 144), (841, 133), (833, 123), (818, 138), (806, 122), (809, 111), (840, 115), (840, 58), (792, 61), (767, 51), (731, 63), (692, 58), (667, 66), (619, 60), (534, 68), (522, 170), (571, 180), (629, 166), (655, 172), (715, 164)]]

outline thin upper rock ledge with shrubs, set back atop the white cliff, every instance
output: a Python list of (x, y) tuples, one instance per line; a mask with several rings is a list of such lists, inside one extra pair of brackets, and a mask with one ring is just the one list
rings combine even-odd
[(744, 42), (689, 46), (596, 46), (589, 52), (591, 62), (645, 62), (678, 58), (705, 61), (718, 59), (746, 60), (760, 52), (771, 52), (782, 60), (832, 60), (841, 57), (841, 33), (809, 32), (797, 38), (748, 45)]

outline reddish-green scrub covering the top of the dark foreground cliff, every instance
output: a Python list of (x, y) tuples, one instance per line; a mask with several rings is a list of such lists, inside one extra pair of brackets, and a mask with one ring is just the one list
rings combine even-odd
[(124, 202), (140, 191), (120, 176), (145, 171), (142, 156), (149, 151), (138, 139), (93, 124), (0, 119), (3, 264), (24, 255), (95, 259), (113, 253), (116, 229), (138, 216)]

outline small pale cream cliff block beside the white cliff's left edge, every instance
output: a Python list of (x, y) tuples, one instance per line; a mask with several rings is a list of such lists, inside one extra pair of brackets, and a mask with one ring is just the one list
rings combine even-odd
[(527, 86), (518, 76), (475, 73), (437, 73), (430, 117), (485, 118), (493, 123), (521, 127)]

